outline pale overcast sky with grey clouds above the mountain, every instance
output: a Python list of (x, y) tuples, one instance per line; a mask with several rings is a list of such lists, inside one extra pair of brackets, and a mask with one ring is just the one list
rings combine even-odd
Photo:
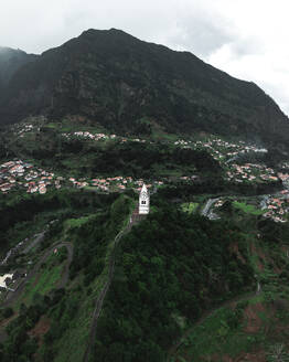
[(257, 83), (289, 115), (288, 0), (0, 0), (0, 45), (41, 53), (121, 29)]

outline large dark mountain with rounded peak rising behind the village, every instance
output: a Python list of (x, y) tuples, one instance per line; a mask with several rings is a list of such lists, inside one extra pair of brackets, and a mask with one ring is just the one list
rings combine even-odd
[(147, 120), (167, 131), (242, 135), (288, 143), (288, 117), (256, 84), (189, 52), (119, 30), (88, 30), (15, 72), (0, 97), (0, 119), (77, 116), (128, 131)]

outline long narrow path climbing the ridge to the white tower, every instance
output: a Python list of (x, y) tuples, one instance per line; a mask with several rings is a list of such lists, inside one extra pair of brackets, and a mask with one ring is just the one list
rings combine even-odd
[(110, 255), (109, 265), (108, 265), (108, 279), (95, 302), (95, 309), (94, 309), (94, 313), (93, 313), (93, 321), (92, 321), (90, 332), (89, 332), (89, 337), (88, 337), (88, 343), (87, 343), (87, 348), (86, 348), (86, 351), (85, 351), (85, 354), (83, 358), (83, 362), (88, 361), (89, 355), (92, 353), (94, 342), (95, 342), (97, 321), (98, 321), (98, 318), (99, 318), (101, 309), (103, 309), (103, 304), (104, 304), (106, 294), (109, 289), (109, 286), (111, 284), (113, 277), (114, 277), (117, 245), (119, 244), (119, 241), (121, 239), (121, 237), (124, 235), (126, 235), (131, 230), (132, 225), (136, 224), (139, 220), (140, 220), (140, 217), (138, 215), (138, 210), (136, 209), (133, 211), (132, 215), (130, 216), (127, 226), (121, 232), (119, 232), (117, 234), (117, 236), (115, 237), (114, 251)]

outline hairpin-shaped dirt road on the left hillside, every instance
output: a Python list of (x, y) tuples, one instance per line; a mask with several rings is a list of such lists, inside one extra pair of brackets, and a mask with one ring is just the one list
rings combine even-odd
[(49, 256), (53, 253), (53, 251), (55, 248), (62, 247), (62, 246), (65, 246), (67, 248), (68, 257), (67, 257), (67, 262), (65, 265), (65, 272), (63, 273), (58, 288), (63, 288), (65, 286), (65, 284), (68, 281), (69, 265), (73, 259), (73, 245), (71, 243), (63, 242), (63, 243), (51, 246), (51, 248), (44, 253), (44, 255), (41, 257), (41, 259), (38, 262), (38, 264), (34, 266), (34, 268), (28, 274), (26, 278), (19, 285), (17, 290), (10, 291), (8, 294), (7, 299), (1, 305), (2, 308), (9, 307), (11, 304), (13, 304), (19, 298), (19, 296), (24, 290), (29, 280), (31, 280), (38, 274), (41, 265), (49, 258)]

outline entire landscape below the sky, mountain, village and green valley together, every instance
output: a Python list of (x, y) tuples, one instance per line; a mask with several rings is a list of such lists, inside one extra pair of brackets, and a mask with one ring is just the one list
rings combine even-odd
[(278, 105), (116, 29), (0, 50), (0, 362), (289, 360)]

